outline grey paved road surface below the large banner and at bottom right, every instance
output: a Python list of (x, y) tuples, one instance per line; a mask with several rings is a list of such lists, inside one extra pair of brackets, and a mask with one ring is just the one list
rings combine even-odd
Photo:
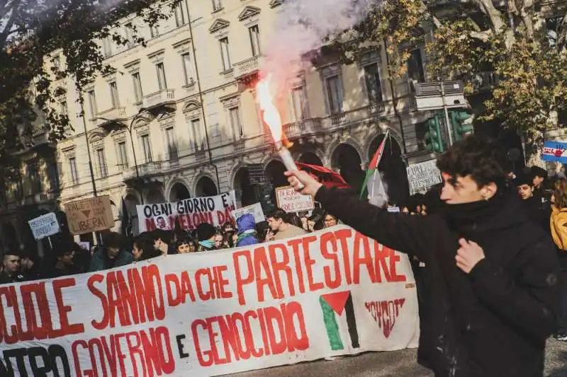
[[(332, 361), (313, 361), (260, 371), (231, 374), (230, 377), (430, 377), (416, 362), (415, 349), (395, 352), (369, 352)], [(546, 377), (567, 377), (567, 342), (549, 340)]]

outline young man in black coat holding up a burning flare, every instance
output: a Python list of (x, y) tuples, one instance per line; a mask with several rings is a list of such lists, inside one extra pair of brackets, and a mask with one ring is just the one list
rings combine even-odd
[(493, 142), (466, 137), (437, 166), (445, 204), (427, 216), (389, 214), (304, 172), (286, 175), (345, 224), (425, 262), (420, 364), (436, 376), (542, 376), (560, 271), (549, 235), (507, 190)]

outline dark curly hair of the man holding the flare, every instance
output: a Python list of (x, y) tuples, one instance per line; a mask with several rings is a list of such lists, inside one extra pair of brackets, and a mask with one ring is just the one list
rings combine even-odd
[(505, 187), (506, 158), (502, 148), (492, 139), (469, 135), (437, 158), (437, 168), (454, 178), (471, 178), (479, 187), (494, 182)]

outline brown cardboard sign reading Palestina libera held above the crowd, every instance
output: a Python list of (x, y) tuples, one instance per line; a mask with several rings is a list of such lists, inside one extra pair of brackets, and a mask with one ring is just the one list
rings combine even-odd
[(64, 208), (72, 234), (104, 231), (114, 226), (111, 197), (108, 195), (66, 203)]

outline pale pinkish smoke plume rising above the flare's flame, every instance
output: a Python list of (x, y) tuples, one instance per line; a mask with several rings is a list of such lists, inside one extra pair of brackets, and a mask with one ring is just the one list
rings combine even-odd
[(318, 50), (325, 38), (352, 28), (364, 19), (376, 0), (286, 0), (265, 51), (261, 71), (271, 73), (279, 91), (308, 52)]

